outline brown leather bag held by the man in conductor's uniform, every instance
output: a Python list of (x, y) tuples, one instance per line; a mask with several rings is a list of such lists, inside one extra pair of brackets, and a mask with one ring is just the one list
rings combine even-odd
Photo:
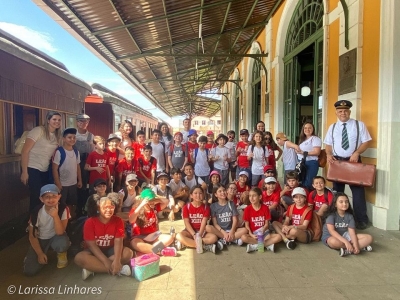
[(326, 178), (329, 181), (371, 187), (375, 183), (375, 174), (375, 165), (335, 160), (329, 164)]

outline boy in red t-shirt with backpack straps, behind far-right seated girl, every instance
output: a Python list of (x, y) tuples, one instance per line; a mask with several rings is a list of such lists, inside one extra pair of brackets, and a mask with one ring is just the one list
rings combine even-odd
[(325, 178), (322, 176), (315, 176), (312, 185), (315, 190), (308, 194), (307, 202), (322, 217), (332, 203), (333, 193), (325, 187)]

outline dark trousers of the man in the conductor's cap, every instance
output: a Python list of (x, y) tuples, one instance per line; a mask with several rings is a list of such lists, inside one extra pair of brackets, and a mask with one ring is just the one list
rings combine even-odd
[[(335, 156), (337, 160), (349, 160), (350, 157), (339, 157)], [(361, 162), (361, 158), (358, 160)], [(333, 189), (337, 192), (344, 192), (345, 183), (341, 182), (333, 182)], [(368, 223), (368, 216), (367, 216), (367, 203), (365, 202), (365, 189), (361, 185), (350, 185), (351, 193), (353, 194), (353, 210), (354, 210), (354, 217), (357, 222), (364, 222)]]

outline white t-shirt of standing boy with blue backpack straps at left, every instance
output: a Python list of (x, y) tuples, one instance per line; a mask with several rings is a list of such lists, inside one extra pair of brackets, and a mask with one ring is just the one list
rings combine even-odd
[[(77, 165), (81, 162), (81, 158), (78, 151), (78, 157), (75, 155), (74, 150), (65, 150), (65, 160), (59, 169), (60, 182), (62, 186), (71, 186), (78, 182), (78, 167)], [(60, 150), (57, 150), (54, 154), (53, 162), (56, 165), (60, 164), (61, 154)]]

